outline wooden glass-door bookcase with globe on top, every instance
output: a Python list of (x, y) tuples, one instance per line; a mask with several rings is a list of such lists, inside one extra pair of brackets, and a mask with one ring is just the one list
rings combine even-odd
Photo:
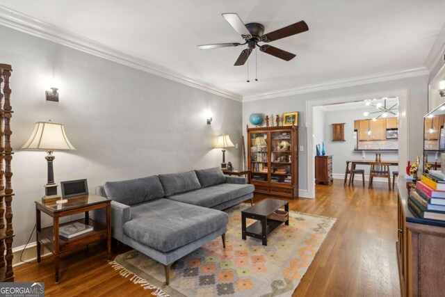
[(255, 193), (298, 197), (298, 127), (248, 128), (248, 168)]

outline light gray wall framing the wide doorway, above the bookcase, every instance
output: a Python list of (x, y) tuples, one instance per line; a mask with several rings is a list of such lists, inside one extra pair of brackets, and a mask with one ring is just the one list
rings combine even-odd
[[(347, 88), (336, 88), (332, 90), (323, 90), (312, 93), (304, 93), (273, 99), (260, 99), (251, 102), (243, 102), (243, 127), (249, 122), (251, 113), (286, 113), (291, 111), (300, 112), (300, 145), (305, 146), (305, 152), (300, 152), (299, 166), (299, 184), (300, 189), (308, 189), (308, 178), (306, 175), (307, 166), (307, 145), (306, 145), (306, 102), (318, 99), (350, 97), (353, 95), (384, 92), (385, 90), (408, 90), (407, 106), (407, 131), (408, 147), (407, 157), (415, 160), (415, 156), (422, 154), (423, 138), (423, 115), (428, 109), (428, 75), (421, 77), (410, 77), (406, 79), (397, 79), (393, 81), (382, 81), (378, 83), (369, 83), (360, 86), (351, 86)], [(340, 120), (340, 119), (339, 119)], [(245, 133), (245, 131), (243, 131)]]

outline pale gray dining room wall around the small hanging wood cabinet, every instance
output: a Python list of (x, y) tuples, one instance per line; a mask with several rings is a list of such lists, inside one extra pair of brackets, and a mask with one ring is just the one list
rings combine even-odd
[[(325, 111), (325, 151), (332, 154), (332, 173), (334, 178), (344, 176), (347, 160), (362, 159), (362, 151), (354, 151), (354, 120), (363, 120), (369, 117), (363, 115), (361, 110)], [(345, 141), (332, 141), (332, 124), (345, 123)], [(398, 161), (398, 152), (381, 152), (382, 161)], [(375, 159), (375, 152), (365, 151), (365, 159)], [(396, 166), (391, 170), (396, 170)], [(369, 175), (369, 166), (357, 166), (364, 169), (365, 175)]]

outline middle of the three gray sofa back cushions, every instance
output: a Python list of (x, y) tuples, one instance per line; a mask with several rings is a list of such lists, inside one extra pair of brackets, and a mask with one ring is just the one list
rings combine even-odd
[(201, 188), (200, 181), (193, 170), (169, 175), (158, 175), (158, 177), (165, 195), (173, 195)]

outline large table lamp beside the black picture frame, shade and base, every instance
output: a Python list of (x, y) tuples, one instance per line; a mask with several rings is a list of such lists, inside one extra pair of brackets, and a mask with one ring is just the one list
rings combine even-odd
[(57, 195), (57, 185), (54, 183), (53, 161), (54, 150), (76, 150), (70, 143), (65, 134), (65, 128), (62, 124), (54, 122), (36, 122), (33, 134), (22, 147), (25, 150), (46, 150), (48, 162), (48, 182), (44, 185), (43, 202), (51, 202), (60, 198)]

